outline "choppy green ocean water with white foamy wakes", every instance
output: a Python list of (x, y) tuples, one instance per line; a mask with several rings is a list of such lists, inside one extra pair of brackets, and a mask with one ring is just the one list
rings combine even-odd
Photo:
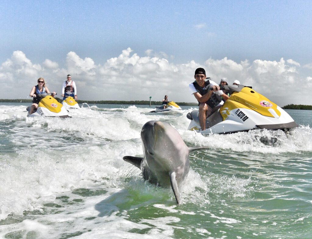
[[(26, 106), (0, 104), (0, 238), (312, 238), (312, 111), (288, 110), (289, 134), (204, 137), (187, 131), (192, 107), (84, 104), (60, 119)], [(190, 155), (179, 206), (122, 159), (143, 155), (149, 120), (210, 147)]]

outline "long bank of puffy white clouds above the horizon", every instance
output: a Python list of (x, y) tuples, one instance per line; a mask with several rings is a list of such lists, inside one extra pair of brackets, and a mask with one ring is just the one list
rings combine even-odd
[[(273, 102), (283, 106), (289, 103), (312, 104), (308, 88), (302, 89), (300, 96), (290, 91), (312, 82), (311, 77), (300, 75), (300, 64), (293, 60), (266, 61), (248, 60), (235, 62), (227, 57), (216, 60), (209, 58), (204, 64), (191, 60), (184, 64), (171, 63), (165, 53), (151, 49), (140, 57), (127, 48), (118, 57), (108, 59), (103, 65), (92, 58), (84, 59), (75, 52), (66, 56), (66, 66), (59, 68), (58, 62), (46, 59), (42, 66), (32, 64), (21, 51), (13, 52), (0, 67), (1, 98), (26, 98), (37, 78), (44, 77), (50, 90), (60, 93), (66, 75), (71, 74), (76, 82), (78, 98), (82, 100), (161, 100), (167, 94), (177, 102), (196, 102), (188, 90), (194, 81), (194, 71), (203, 67), (206, 75), (217, 83), (227, 77), (230, 84), (239, 80), (241, 84), (252, 86)], [(299, 67), (299, 68), (297, 68)], [(14, 88), (14, 91), (12, 91)]]

